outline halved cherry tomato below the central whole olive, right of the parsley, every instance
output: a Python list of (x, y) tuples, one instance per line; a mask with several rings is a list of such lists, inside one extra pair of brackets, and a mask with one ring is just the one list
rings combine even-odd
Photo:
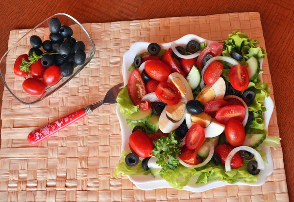
[(204, 129), (195, 123), (191, 126), (186, 134), (186, 146), (188, 149), (197, 149), (203, 144), (205, 137)]

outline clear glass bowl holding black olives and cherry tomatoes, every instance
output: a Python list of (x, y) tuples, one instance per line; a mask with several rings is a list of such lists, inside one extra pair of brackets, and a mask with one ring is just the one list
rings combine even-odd
[[(84, 64), (78, 65), (74, 68), (73, 74), (69, 77), (62, 77), (57, 84), (54, 86), (47, 86), (45, 91), (41, 95), (30, 95), (23, 90), (22, 84), (26, 78), (31, 77), (19, 77), (13, 72), (13, 65), (16, 58), (22, 54), (28, 54), (28, 51), (32, 48), (29, 43), (29, 38), (32, 35), (38, 35), (42, 41), (49, 40), (49, 21), (51, 18), (59, 18), (61, 25), (68, 25), (73, 29), (73, 38), (76, 41), (83, 41), (86, 49), (86, 60)], [(23, 30), (22, 30), (23, 31)], [(23, 31), (24, 32), (24, 31)], [(18, 32), (19, 35), (23, 35), (23, 32)], [(41, 50), (45, 52), (42, 48)], [(0, 60), (0, 76), (8, 91), (20, 102), (30, 105), (37, 103), (53, 92), (58, 90), (60, 87), (68, 83), (75, 75), (77, 75), (94, 57), (95, 44), (88, 31), (72, 16), (66, 13), (57, 13), (44, 20), (42, 23), (37, 25), (31, 30), (28, 30), (23, 37), (21, 37), (9, 50), (4, 54)], [(42, 80), (42, 79), (41, 79)]]

